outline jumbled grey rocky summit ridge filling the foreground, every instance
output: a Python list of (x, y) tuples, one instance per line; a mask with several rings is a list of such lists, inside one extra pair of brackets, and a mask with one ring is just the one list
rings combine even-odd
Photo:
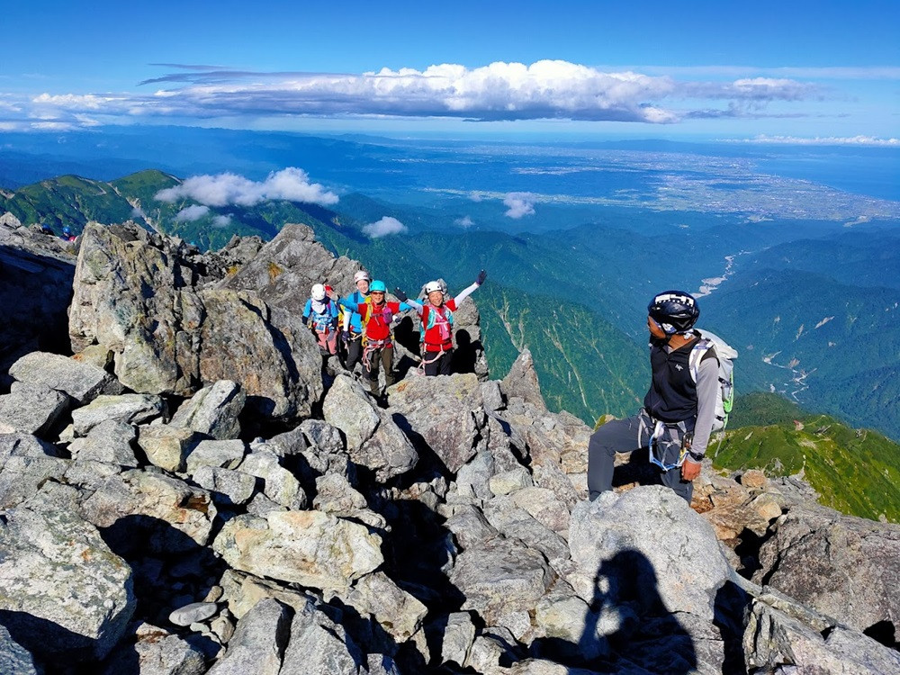
[(0, 218), (0, 672), (900, 672), (900, 527), (709, 464), (689, 506), (639, 458), (590, 502), (527, 351), (401, 349), (377, 398), (323, 364), (299, 308), (357, 269), (302, 225)]

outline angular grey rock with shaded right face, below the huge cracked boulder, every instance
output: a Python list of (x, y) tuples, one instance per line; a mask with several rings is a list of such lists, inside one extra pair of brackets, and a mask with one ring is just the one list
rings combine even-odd
[(244, 410), (247, 394), (231, 380), (220, 380), (203, 387), (184, 401), (172, 416), (173, 427), (190, 428), (217, 440), (240, 436), (238, 416)]

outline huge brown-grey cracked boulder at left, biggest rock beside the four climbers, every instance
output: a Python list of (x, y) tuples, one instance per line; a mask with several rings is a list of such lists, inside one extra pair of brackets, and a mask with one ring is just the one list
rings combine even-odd
[(322, 392), (320, 358), (300, 316), (252, 291), (198, 291), (197, 281), (176, 240), (89, 225), (69, 314), (72, 348), (112, 352), (115, 374), (134, 392), (190, 396), (232, 379), (265, 419), (308, 414)]

